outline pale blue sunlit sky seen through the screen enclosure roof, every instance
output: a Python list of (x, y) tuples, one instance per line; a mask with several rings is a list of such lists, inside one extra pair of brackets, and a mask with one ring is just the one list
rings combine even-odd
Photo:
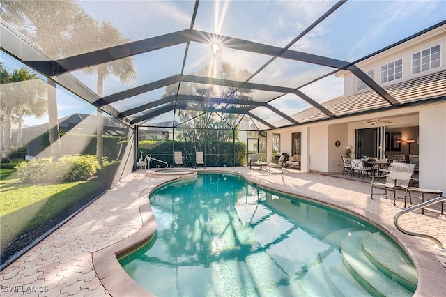
[[(124, 38), (132, 41), (151, 38), (188, 29), (194, 1), (77, 1), (99, 22), (110, 22)], [(218, 33), (283, 47), (312, 24), (337, 1), (200, 1), (194, 29)], [(315, 29), (291, 46), (292, 50), (311, 52), (343, 61), (355, 61), (362, 56), (396, 43), (413, 33), (446, 19), (446, 1), (347, 1), (338, 10), (318, 24)], [(353, 24), (353, 25), (352, 25)], [(130, 84), (110, 76), (105, 81), (104, 95), (124, 91), (157, 79), (180, 73), (185, 45), (175, 45), (134, 56), (138, 78)], [(224, 48), (218, 62), (229, 61), (253, 73), (269, 56)], [(1, 61), (10, 70), (23, 65), (1, 53)], [(185, 73), (197, 73), (210, 63), (212, 53), (206, 45), (191, 43), (185, 64)], [(316, 74), (329, 73), (334, 68), (277, 59), (256, 75), (252, 82), (297, 87), (309, 82)], [(71, 73), (80, 82), (95, 91), (95, 77), (82, 70)], [(324, 79), (324, 85), (305, 87), (317, 102), (325, 102), (344, 91), (342, 79), (333, 76)], [(58, 87), (59, 117), (84, 112), (93, 114), (95, 108), (77, 96)], [(271, 104), (288, 112), (308, 107), (296, 96), (284, 96)], [(132, 100), (122, 102), (132, 107)], [(133, 103), (134, 104), (134, 103)], [(271, 119), (267, 109), (256, 115)], [(46, 122), (47, 119), (27, 118), (26, 125)]]

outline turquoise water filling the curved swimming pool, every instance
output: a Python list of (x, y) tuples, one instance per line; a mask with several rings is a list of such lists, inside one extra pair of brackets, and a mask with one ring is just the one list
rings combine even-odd
[(350, 215), (228, 174), (149, 198), (155, 238), (120, 259), (157, 296), (412, 296), (410, 259)]

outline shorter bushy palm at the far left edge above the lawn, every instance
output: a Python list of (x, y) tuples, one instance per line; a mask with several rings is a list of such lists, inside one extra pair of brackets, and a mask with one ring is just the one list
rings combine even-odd
[(26, 102), (45, 100), (45, 84), (36, 73), (24, 67), (13, 70), (13, 73), (9, 75), (6, 75), (3, 68), (1, 73), (1, 110), (4, 116), (1, 159), (9, 161), (13, 116), (20, 118), (20, 109), (26, 105)]

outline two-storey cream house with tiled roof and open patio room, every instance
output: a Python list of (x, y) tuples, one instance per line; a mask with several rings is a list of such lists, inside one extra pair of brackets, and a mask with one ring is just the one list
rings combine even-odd
[[(343, 79), (344, 95), (322, 106), (335, 114), (348, 112), (352, 116), (270, 130), (267, 151), (272, 152), (272, 134), (279, 133), (281, 151), (291, 153), (292, 135), (300, 133), (302, 171), (339, 172), (347, 146), (356, 158), (362, 157), (363, 146), (381, 158), (389, 153), (409, 155), (410, 147), (410, 154), (420, 157), (420, 186), (446, 192), (445, 36), (446, 26), (439, 26), (357, 63), (397, 100), (399, 108), (391, 108), (390, 102), (351, 71), (341, 70), (336, 77)], [(378, 111), (368, 113), (371, 109)], [(312, 107), (293, 118), (317, 120), (318, 114), (322, 113)], [(362, 133), (369, 135), (369, 143), (360, 142)], [(400, 138), (390, 139), (391, 133)], [(392, 151), (392, 140), (396, 151)], [(337, 141), (339, 147), (335, 146)]]

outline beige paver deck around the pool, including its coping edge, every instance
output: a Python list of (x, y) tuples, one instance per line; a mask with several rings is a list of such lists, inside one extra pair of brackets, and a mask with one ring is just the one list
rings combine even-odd
[[(248, 181), (281, 192), (334, 204), (373, 220), (403, 246), (419, 276), (415, 296), (445, 296), (446, 253), (425, 238), (399, 232), (394, 215), (403, 199), (377, 195), (370, 199), (370, 185), (357, 181), (301, 173), (284, 174), (249, 170), (249, 167), (199, 169), (236, 172)], [(170, 177), (150, 177), (133, 172), (74, 218), (31, 248), (0, 273), (1, 296), (150, 296), (118, 265), (116, 254), (132, 243), (150, 238), (156, 223), (148, 206), (148, 193)], [(402, 192), (399, 193), (402, 195)], [(401, 217), (401, 227), (436, 236), (446, 244), (446, 215), (439, 210), (420, 210)], [(130, 245), (129, 245), (130, 243)]]

